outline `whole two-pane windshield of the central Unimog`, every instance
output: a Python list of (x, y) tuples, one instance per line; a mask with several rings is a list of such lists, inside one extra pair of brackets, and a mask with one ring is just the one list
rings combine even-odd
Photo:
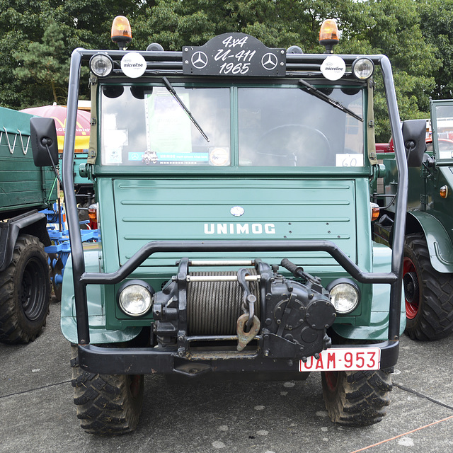
[[(363, 123), (298, 86), (174, 90), (179, 103), (165, 86), (102, 87), (102, 164), (364, 165)], [(363, 115), (359, 88), (325, 92)]]

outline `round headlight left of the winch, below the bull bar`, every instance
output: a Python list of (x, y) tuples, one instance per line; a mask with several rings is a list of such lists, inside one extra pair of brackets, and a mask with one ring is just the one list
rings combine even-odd
[(151, 309), (154, 290), (142, 280), (131, 280), (118, 291), (120, 309), (129, 316), (142, 316)]

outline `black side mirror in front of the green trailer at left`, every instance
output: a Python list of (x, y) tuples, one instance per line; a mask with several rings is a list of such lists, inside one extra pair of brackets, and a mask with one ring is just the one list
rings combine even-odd
[(47, 167), (57, 165), (57, 129), (55, 128), (55, 120), (53, 118), (30, 118), (30, 141), (35, 166)]

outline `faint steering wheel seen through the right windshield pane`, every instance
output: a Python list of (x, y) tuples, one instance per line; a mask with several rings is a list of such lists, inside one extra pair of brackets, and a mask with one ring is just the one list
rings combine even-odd
[(327, 137), (320, 130), (305, 125), (273, 127), (260, 138), (258, 149), (260, 165), (335, 165)]

